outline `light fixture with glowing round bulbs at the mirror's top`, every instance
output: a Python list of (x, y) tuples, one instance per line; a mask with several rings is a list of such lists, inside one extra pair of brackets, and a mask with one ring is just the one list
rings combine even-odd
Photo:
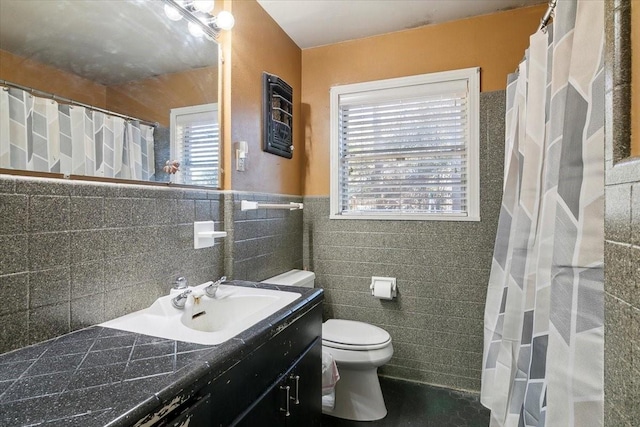
[(217, 38), (221, 30), (230, 30), (235, 24), (231, 12), (221, 11), (217, 16), (212, 16), (213, 0), (163, 0), (164, 13), (172, 21), (185, 18), (189, 23), (189, 32), (194, 37), (206, 35)]

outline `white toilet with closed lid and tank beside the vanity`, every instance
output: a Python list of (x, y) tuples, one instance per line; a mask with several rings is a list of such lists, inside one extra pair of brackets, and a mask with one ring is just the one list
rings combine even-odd
[[(313, 288), (315, 274), (291, 270), (263, 283)], [(391, 336), (377, 326), (352, 320), (329, 319), (322, 325), (322, 350), (331, 354), (340, 380), (335, 389), (335, 406), (322, 412), (355, 421), (374, 421), (387, 415), (378, 367), (393, 355)]]

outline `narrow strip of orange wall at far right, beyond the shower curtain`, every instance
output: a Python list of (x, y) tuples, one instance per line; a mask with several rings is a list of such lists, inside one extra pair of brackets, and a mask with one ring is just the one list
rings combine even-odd
[(631, 2), (631, 155), (640, 156), (640, 2)]

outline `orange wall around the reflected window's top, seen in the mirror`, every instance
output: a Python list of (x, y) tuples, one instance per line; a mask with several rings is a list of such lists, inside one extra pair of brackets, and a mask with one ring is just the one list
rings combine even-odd
[(218, 102), (218, 67), (107, 87), (107, 109), (169, 126), (169, 110)]

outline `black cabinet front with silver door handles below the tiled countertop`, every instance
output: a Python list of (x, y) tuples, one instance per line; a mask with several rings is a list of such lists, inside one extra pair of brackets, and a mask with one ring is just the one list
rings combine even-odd
[(142, 425), (320, 426), (321, 334), (322, 304), (317, 304), (294, 321), (285, 320), (273, 336), (211, 378), (180, 408)]

